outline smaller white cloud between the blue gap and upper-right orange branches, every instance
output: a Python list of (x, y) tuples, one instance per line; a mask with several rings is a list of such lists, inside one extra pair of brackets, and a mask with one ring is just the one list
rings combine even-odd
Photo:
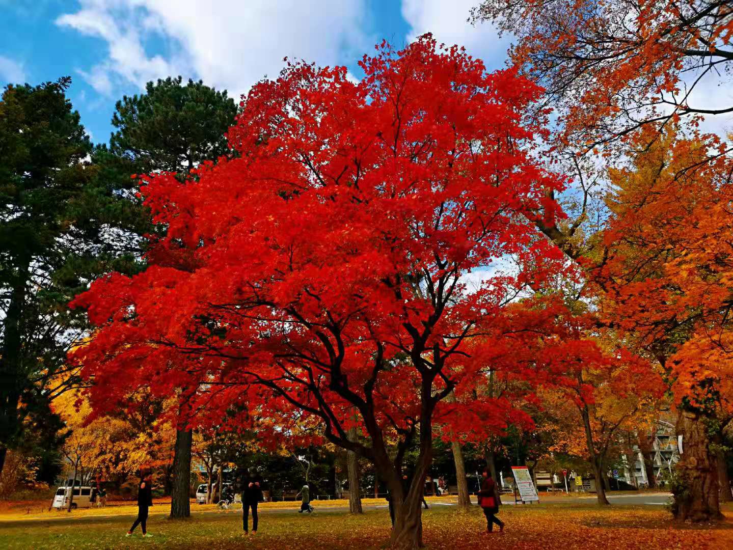
[(467, 53), (482, 59), (489, 70), (504, 67), (511, 37), (500, 39), (489, 23), (468, 23), (476, 4), (476, 0), (402, 0), (402, 17), (410, 25), (408, 42), (432, 32), (438, 43), (465, 46)]

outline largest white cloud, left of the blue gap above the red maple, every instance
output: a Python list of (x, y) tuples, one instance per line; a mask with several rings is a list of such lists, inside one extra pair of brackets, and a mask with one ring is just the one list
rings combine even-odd
[[(56, 23), (107, 42), (106, 59), (82, 73), (100, 93), (181, 74), (236, 95), (276, 76), (285, 56), (332, 65), (366, 51), (364, 13), (364, 0), (81, 0)], [(149, 56), (150, 38), (176, 53)]]

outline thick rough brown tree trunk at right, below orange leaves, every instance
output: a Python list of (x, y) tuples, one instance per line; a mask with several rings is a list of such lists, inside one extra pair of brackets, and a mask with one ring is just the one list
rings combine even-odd
[(674, 517), (683, 521), (720, 519), (718, 465), (710, 453), (710, 435), (704, 417), (679, 409), (677, 434), (682, 435), (682, 455), (677, 463), (679, 482), (672, 486)]

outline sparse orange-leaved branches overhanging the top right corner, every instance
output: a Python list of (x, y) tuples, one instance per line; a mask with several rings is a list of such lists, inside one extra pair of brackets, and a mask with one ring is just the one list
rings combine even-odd
[(517, 37), (512, 62), (545, 86), (572, 149), (591, 151), (651, 123), (733, 112), (701, 92), (711, 81), (724, 86), (733, 64), (727, 0), (485, 0), (472, 18)]

